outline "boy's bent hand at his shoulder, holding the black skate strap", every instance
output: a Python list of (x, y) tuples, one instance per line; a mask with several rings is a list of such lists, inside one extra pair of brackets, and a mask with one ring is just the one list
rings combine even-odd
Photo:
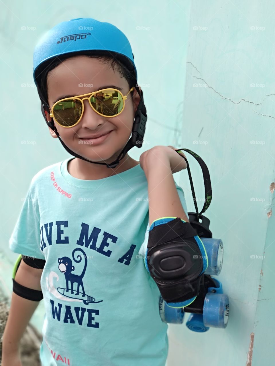
[(150, 166), (154, 166), (159, 163), (159, 160), (162, 162), (167, 158), (167, 164), (170, 164), (170, 169), (172, 173), (179, 172), (183, 169), (187, 168), (186, 161), (182, 158), (182, 156), (186, 157), (184, 153), (177, 153), (177, 150), (173, 146), (154, 146), (149, 150), (144, 151), (139, 158), (140, 167), (147, 172), (147, 169), (150, 169)]

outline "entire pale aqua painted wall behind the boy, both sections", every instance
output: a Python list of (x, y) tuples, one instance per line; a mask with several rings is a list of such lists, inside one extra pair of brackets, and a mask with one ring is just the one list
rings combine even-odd
[[(8, 238), (30, 180), (69, 156), (50, 137), (41, 115), (32, 79), (33, 48), (56, 23), (94, 17), (124, 31), (135, 56), (148, 122), (143, 147), (130, 155), (138, 160), (155, 145), (186, 147), (210, 171), (213, 199), (206, 216), (213, 236), (225, 246), (219, 277), (230, 296), (230, 320), (227, 329), (203, 334), (185, 325), (169, 326), (168, 366), (244, 366), (252, 333), (253, 366), (273, 364), (275, 226), (274, 217), (267, 216), (274, 210), (269, 186), (275, 179), (272, 5), (248, 0), (2, 4), (0, 279), (6, 294), (12, 291), (17, 258)], [(187, 158), (196, 197), (204, 198), (199, 165)], [(187, 171), (174, 178), (184, 189), (188, 210), (194, 211)], [(41, 302), (32, 318), (40, 330), (43, 314)]]

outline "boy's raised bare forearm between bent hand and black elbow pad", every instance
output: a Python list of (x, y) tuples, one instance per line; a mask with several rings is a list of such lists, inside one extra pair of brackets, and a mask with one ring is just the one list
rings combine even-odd
[(157, 157), (152, 154), (144, 173), (148, 182), (150, 226), (154, 220), (169, 216), (189, 222), (177, 193), (169, 159), (164, 154)]

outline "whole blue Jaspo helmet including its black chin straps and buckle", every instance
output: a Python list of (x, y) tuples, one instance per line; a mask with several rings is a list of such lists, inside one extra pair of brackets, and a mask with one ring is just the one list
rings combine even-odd
[[(111, 56), (124, 64), (137, 81), (134, 55), (125, 34), (110, 23), (99, 22), (92, 18), (77, 18), (57, 24), (47, 31), (38, 41), (33, 52), (33, 79), (35, 85), (37, 86), (37, 78), (43, 72), (45, 66), (50, 64), (54, 59), (58, 59), (58, 56), (68, 54), (68, 57), (71, 57), (74, 53), (80, 55), (81, 53), (85, 54), (87, 51), (95, 51), (95, 53), (98, 51), (99, 55), (102, 51), (109, 51)], [(41, 100), (41, 111), (46, 123), (55, 131), (59, 141), (67, 152), (89, 163), (104, 164), (108, 168), (115, 168), (133, 146), (142, 146), (147, 115), (143, 102), (143, 92), (139, 90), (137, 83), (135, 89), (140, 96), (140, 102), (133, 121), (132, 135), (117, 159), (110, 164), (106, 164), (90, 161), (73, 152), (65, 145), (56, 130), (53, 119), (47, 121), (44, 111), (49, 111), (49, 106), (43, 100), (40, 89), (37, 86)]]

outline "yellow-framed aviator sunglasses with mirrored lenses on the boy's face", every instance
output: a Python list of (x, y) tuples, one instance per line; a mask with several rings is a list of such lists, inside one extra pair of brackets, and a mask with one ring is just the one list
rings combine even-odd
[[(128, 94), (134, 90), (133, 86), (124, 96), (118, 89), (101, 89), (92, 93), (60, 99), (52, 106), (50, 117), (62, 127), (74, 127), (80, 122), (84, 113), (85, 99), (88, 99), (91, 108), (103, 117), (118, 116), (125, 107)], [(85, 97), (81, 98), (80, 97)]]

